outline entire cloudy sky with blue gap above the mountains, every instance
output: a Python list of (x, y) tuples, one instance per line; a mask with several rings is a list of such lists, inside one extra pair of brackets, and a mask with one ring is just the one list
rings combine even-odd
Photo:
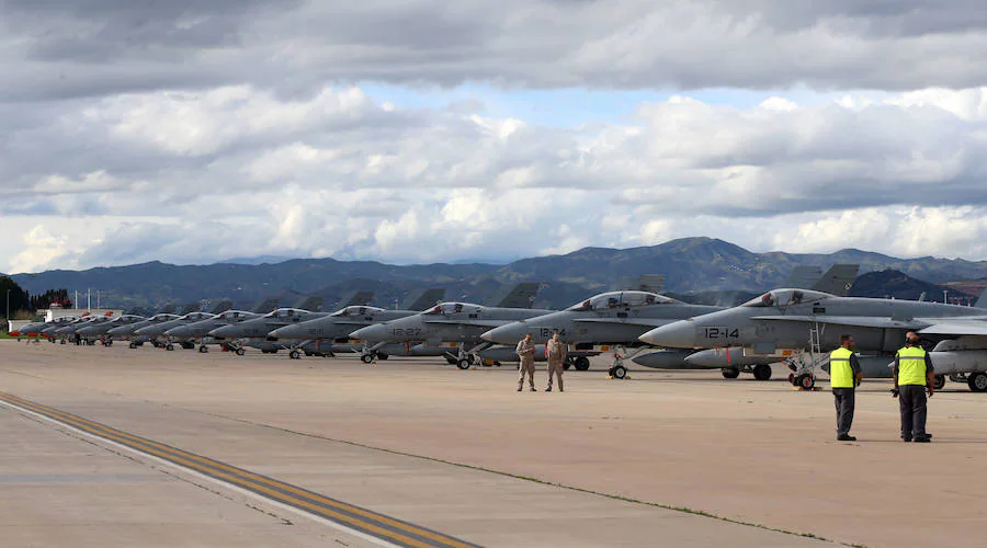
[(987, 259), (980, 0), (3, 0), (0, 271)]

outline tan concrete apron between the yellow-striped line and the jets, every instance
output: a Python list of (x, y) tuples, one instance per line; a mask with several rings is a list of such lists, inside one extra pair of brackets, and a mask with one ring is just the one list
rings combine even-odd
[[(948, 384), (930, 402), (934, 442), (914, 445), (898, 439), (888, 383), (865, 383), (860, 442), (838, 443), (826, 391), (718, 372), (608, 380), (600, 364), (566, 373), (565, 393), (519, 393), (509, 366), (0, 341), (0, 390), (484, 546), (820, 544), (782, 530), (866, 546), (982, 544), (987, 395)], [(540, 390), (544, 377), (541, 367)], [(16, 445), (2, 458), (33, 460)], [(45, 466), (30, 473), (58, 473)], [(63, 487), (78, 488), (50, 488)], [(143, 483), (127, 489), (145, 496)], [(71, 523), (11, 506), (10, 524)], [(222, 537), (224, 524), (209, 525)]]

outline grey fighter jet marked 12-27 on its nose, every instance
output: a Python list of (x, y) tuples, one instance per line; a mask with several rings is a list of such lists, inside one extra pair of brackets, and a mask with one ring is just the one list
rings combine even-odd
[[(469, 302), (443, 302), (431, 309), (384, 323), (368, 326), (350, 333), (351, 339), (367, 343), (365, 353), (376, 352), (387, 343), (417, 343), (434, 346), (442, 342), (457, 342), (456, 365), (467, 369), (476, 361), (476, 353), (492, 343), (480, 335), (492, 328), (518, 320), (544, 316), (551, 310), (531, 308), (485, 307)], [(466, 349), (468, 346), (468, 350)], [(449, 354), (453, 357), (452, 354)]]

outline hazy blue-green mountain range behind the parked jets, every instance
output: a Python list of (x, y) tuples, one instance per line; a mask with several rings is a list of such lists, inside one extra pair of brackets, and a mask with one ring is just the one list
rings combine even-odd
[[(259, 258), (280, 259), (280, 258)], [(252, 262), (243, 259), (238, 261)], [(569, 306), (587, 295), (609, 290), (621, 279), (665, 274), (665, 288), (677, 294), (737, 292), (757, 294), (776, 287), (798, 264), (828, 267), (838, 262), (861, 264), (861, 273), (899, 271), (942, 284), (987, 277), (987, 262), (962, 259), (897, 259), (860, 250), (831, 254), (753, 253), (723, 240), (684, 238), (660, 246), (586, 248), (564, 255), (522, 259), (509, 264), (389, 265), (375, 261), (293, 259), (274, 264), (173, 265), (149, 262), (87, 271), (48, 271), (12, 277), (32, 294), (54, 287), (99, 290), (105, 305), (128, 308), (229, 298), (253, 302), (280, 294), (319, 294), (334, 305), (344, 290), (370, 289), (376, 304), (393, 306), (421, 287), (447, 287), (447, 298), (484, 302), (517, 282), (544, 282), (535, 306)], [(870, 290), (870, 289), (867, 289)], [(921, 293), (921, 292), (919, 292)], [(883, 294), (881, 294), (883, 296)], [(940, 290), (941, 295), (941, 290)], [(930, 293), (930, 298), (932, 295)], [(716, 297), (721, 298), (721, 297)]]

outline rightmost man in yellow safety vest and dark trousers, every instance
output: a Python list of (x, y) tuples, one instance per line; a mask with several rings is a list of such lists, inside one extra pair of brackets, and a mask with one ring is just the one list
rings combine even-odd
[(935, 374), (929, 353), (914, 331), (905, 334), (905, 347), (895, 354), (895, 391), (901, 408), (901, 439), (929, 443), (926, 433), (926, 392), (932, 396)]

